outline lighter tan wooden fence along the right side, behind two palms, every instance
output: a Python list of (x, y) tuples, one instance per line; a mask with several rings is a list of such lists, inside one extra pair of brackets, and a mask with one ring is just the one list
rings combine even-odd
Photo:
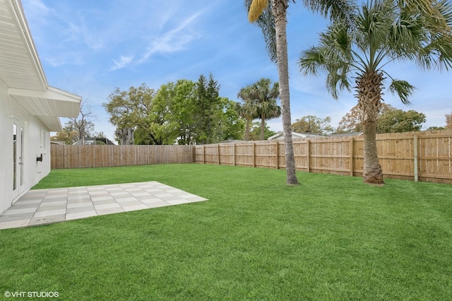
[[(305, 172), (362, 176), (363, 136), (301, 138), (293, 141), (295, 166)], [(379, 134), (383, 175), (452, 183), (452, 130)], [(283, 141), (195, 146), (196, 163), (285, 168)]]

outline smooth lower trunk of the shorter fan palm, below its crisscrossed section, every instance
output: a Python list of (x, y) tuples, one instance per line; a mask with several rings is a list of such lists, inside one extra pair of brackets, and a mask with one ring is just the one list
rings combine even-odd
[(368, 184), (383, 184), (383, 172), (376, 153), (376, 122), (364, 122), (364, 172)]

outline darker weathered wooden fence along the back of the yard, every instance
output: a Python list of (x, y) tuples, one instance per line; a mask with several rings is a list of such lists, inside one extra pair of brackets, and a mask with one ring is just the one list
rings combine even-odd
[(52, 168), (193, 163), (193, 146), (66, 146), (52, 144)]

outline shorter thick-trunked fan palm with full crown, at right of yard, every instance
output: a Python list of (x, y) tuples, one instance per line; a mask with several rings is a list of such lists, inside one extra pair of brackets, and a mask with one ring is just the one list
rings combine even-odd
[(376, 153), (376, 118), (382, 106), (385, 79), (388, 90), (403, 103), (415, 89), (393, 78), (383, 68), (393, 61), (410, 60), (422, 69), (452, 67), (452, 6), (450, 0), (421, 5), (393, 0), (370, 0), (355, 8), (350, 23), (334, 20), (321, 33), (319, 45), (302, 52), (300, 69), (325, 71), (326, 87), (338, 99), (338, 89), (355, 91), (364, 132), (364, 182), (383, 184)]

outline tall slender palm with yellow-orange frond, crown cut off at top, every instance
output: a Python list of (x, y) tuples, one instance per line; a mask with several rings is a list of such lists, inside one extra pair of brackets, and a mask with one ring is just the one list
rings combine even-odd
[[(270, 59), (277, 63), (280, 83), (280, 99), (283, 116), (285, 162), (289, 185), (299, 184), (295, 175), (295, 157), (292, 145), (292, 119), (290, 117), (289, 71), (287, 58), (286, 15), (290, 0), (245, 0), (248, 19), (261, 28)], [(295, 3), (294, 0), (292, 2)], [(305, 0), (313, 11), (331, 18), (348, 18), (350, 0)]]

